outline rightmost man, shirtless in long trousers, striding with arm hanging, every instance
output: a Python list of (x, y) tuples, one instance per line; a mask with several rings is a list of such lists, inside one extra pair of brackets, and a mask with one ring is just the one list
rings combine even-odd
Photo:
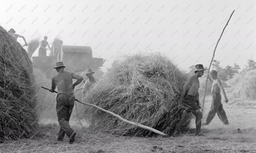
[(204, 123), (205, 125), (208, 125), (212, 119), (214, 118), (215, 114), (217, 113), (219, 116), (219, 119), (225, 124), (228, 125), (229, 121), (227, 119), (227, 115), (223, 109), (223, 105), (221, 104), (221, 94), (224, 95), (224, 101), (225, 103), (229, 102), (227, 99), (227, 95), (225, 93), (225, 90), (223, 86), (221, 85), (221, 81), (218, 77), (218, 72), (216, 70), (211, 70), (210, 71), (210, 77), (208, 78), (210, 82), (212, 83), (212, 106), (211, 109), (207, 115), (206, 122)]

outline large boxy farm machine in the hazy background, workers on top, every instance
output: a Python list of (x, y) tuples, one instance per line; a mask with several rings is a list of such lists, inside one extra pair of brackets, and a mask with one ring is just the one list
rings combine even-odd
[(82, 72), (88, 68), (96, 70), (106, 61), (103, 58), (93, 58), (89, 46), (60, 45), (59, 47), (53, 46), (52, 49), (53, 56), (32, 57), (33, 68), (42, 70), (48, 79), (54, 75), (53, 67), (59, 61), (63, 61), (65, 69), (70, 72)]

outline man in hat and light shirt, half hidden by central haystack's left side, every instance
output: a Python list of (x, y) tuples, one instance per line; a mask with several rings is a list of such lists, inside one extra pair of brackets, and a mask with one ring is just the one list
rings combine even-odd
[(78, 88), (76, 91), (81, 90), (82, 89), (82, 101), (84, 100), (84, 95), (87, 95), (88, 92), (90, 92), (92, 86), (98, 81), (98, 79), (95, 79), (93, 77), (93, 74), (95, 72), (93, 72), (93, 70), (91, 70), (91, 68), (89, 68), (87, 70), (86, 73), (86, 77), (88, 79), (84, 79), (83, 83), (84, 83), (84, 87), (83, 88)]

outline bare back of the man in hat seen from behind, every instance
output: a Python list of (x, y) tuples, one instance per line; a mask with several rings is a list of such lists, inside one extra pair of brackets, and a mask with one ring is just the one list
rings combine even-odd
[(60, 72), (53, 77), (53, 81), (58, 88), (58, 94), (72, 94), (73, 93), (73, 77), (70, 72)]

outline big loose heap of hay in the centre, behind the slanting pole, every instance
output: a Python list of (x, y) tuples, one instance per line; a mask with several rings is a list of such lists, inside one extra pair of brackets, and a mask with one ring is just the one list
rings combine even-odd
[[(179, 111), (177, 102), (185, 80), (185, 73), (165, 56), (135, 54), (114, 61), (85, 99), (124, 119), (168, 134), (181, 116), (182, 109)], [(82, 113), (84, 117), (91, 115), (94, 130), (126, 135), (152, 134), (95, 108), (86, 106)]]

